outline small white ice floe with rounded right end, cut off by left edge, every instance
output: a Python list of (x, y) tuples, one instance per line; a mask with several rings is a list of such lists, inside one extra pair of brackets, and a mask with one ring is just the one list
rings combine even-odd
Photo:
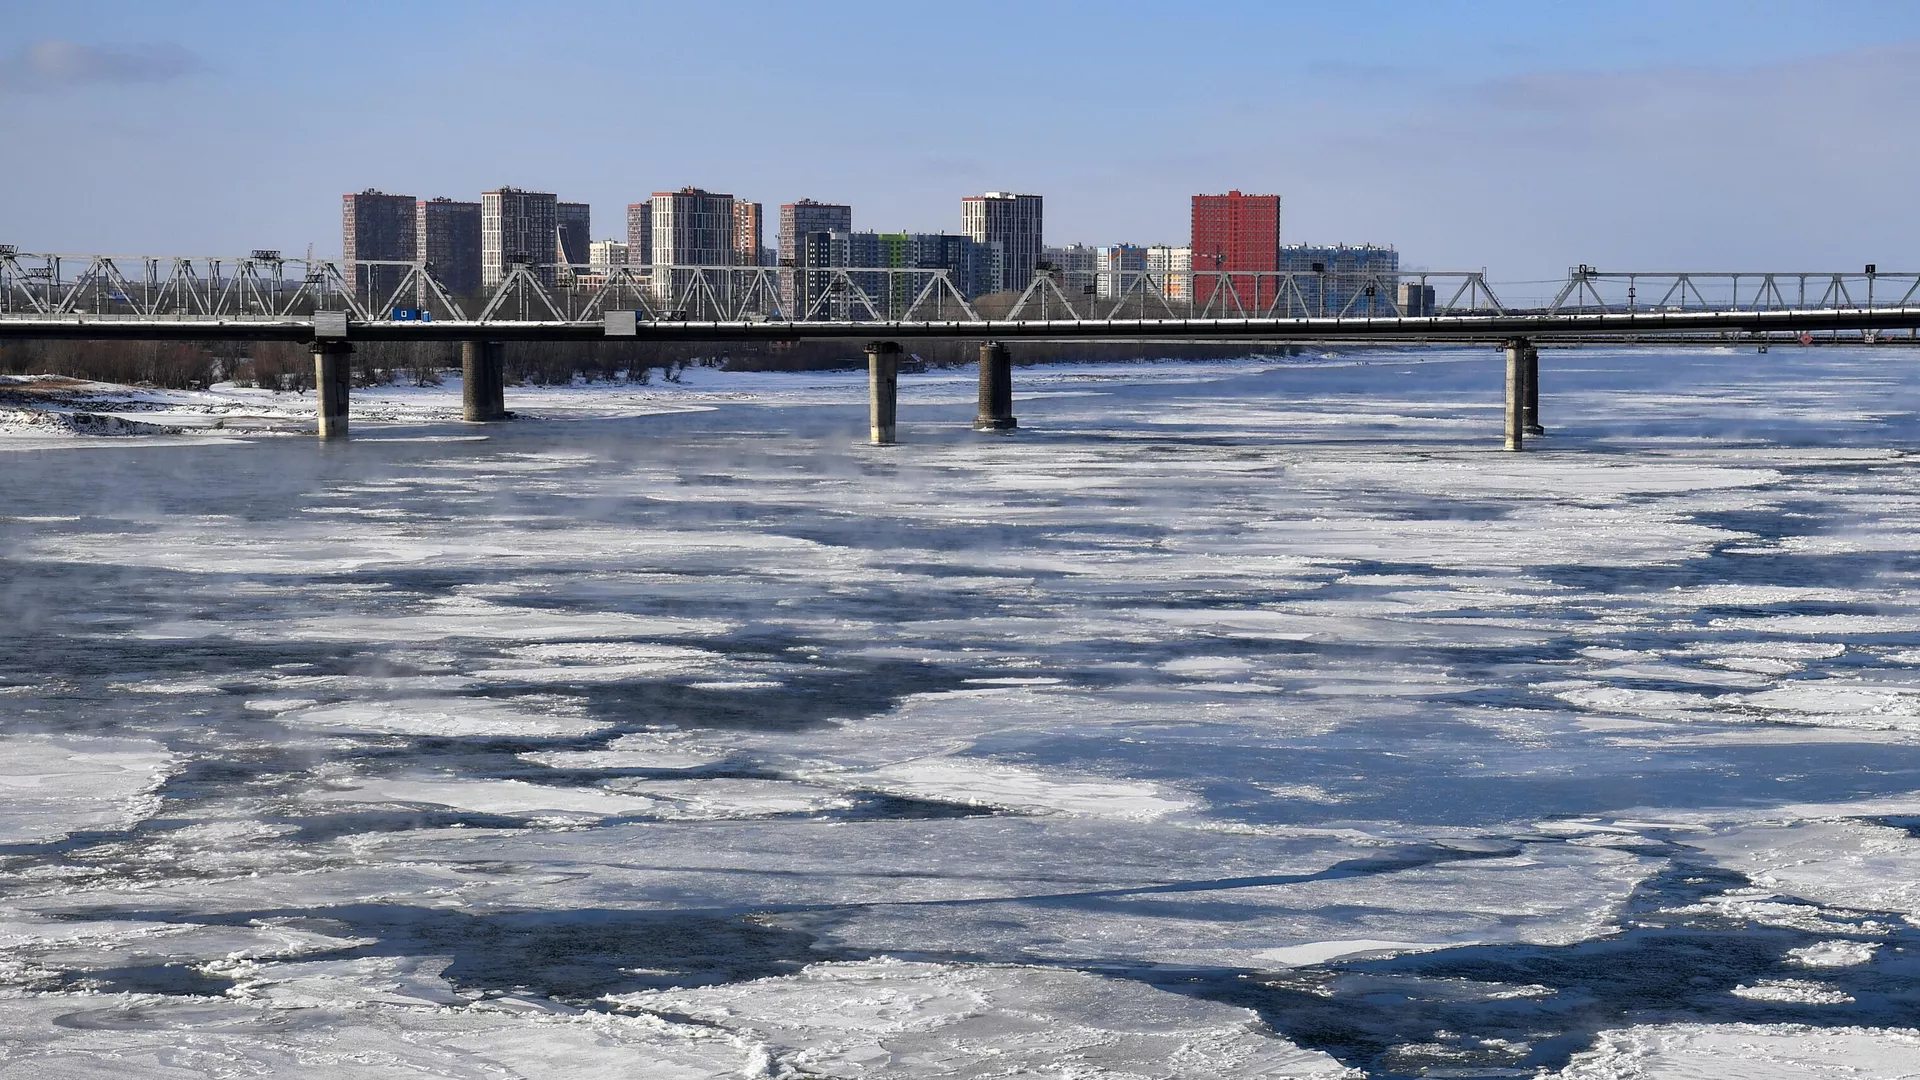
[(127, 828), (154, 811), (173, 763), (138, 738), (0, 738), (0, 844)]

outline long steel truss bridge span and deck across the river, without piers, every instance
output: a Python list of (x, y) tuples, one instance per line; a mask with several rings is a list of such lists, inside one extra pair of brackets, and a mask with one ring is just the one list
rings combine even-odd
[(0, 246), (0, 338), (240, 340), (1505, 340), (1864, 334), (1920, 327), (1920, 273), (1574, 267), (1542, 306), (1484, 271), (1037, 273), (968, 298), (945, 269), (515, 265), (455, 296), (424, 261), (65, 256)]

